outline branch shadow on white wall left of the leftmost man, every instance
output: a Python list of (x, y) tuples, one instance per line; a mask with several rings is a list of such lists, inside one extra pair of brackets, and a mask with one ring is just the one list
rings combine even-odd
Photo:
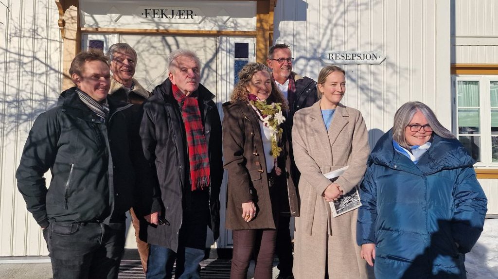
[[(40, 11), (51, 12), (51, 3), (37, 5)], [(38, 114), (56, 104), (63, 76), (58, 28), (40, 24), (36, 17), (6, 20), (0, 24), (5, 39), (0, 44), (0, 148), (15, 142), (17, 132), (28, 129)]]

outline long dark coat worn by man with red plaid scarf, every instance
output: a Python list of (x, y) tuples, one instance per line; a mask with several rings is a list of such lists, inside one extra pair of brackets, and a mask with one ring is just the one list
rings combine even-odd
[[(150, 244), (176, 251), (185, 209), (184, 193), (186, 190), (190, 191), (190, 172), (185, 125), (171, 86), (169, 79), (166, 79), (152, 91), (153, 95), (143, 103), (140, 127), (144, 155), (149, 165), (155, 169), (157, 178), (151, 212), (162, 212), (168, 224), (155, 226), (142, 222), (140, 238)], [(215, 95), (202, 85), (199, 85), (197, 94), (211, 172), (210, 214), (207, 214), (210, 215), (210, 220), (206, 223), (216, 240), (220, 235), (219, 195), (223, 180), (222, 128), (220, 115), (213, 101)]]

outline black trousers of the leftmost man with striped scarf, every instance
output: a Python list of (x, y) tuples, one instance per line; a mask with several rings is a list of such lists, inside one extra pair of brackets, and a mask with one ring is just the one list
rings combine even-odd
[(43, 230), (54, 279), (116, 279), (125, 223), (50, 222)]

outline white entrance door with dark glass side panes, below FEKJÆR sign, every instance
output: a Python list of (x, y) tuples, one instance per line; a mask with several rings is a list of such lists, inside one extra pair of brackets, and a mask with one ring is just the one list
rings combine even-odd
[[(195, 51), (202, 64), (201, 83), (216, 95), (214, 101), (222, 119), (222, 104), (230, 100), (239, 70), (256, 59), (253, 37), (84, 34), (82, 49), (100, 48), (107, 53), (109, 46), (117, 42), (127, 43), (136, 51), (138, 59), (134, 78), (148, 91), (168, 77), (168, 54), (172, 50), (185, 48)], [(213, 244), (212, 233), (208, 230), (207, 247), (225, 248), (233, 245), (232, 231), (225, 229), (226, 178), (225, 173), (220, 193), (220, 238)], [(136, 248), (134, 229), (129, 222), (130, 218), (127, 222), (125, 248)]]

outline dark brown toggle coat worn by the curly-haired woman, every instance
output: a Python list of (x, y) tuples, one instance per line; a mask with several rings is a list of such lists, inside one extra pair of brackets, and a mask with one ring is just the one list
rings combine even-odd
[[(274, 229), (278, 214), (299, 214), (296, 189), (286, 171), (290, 170), (288, 152), (284, 148), (277, 163), (282, 169), (279, 183), (269, 188), (257, 114), (242, 101), (223, 104), (223, 111), (224, 168), (228, 172), (225, 225), (231, 230)], [(285, 147), (285, 131), (282, 138)], [(246, 222), (242, 203), (250, 200), (256, 205), (256, 216)]]

